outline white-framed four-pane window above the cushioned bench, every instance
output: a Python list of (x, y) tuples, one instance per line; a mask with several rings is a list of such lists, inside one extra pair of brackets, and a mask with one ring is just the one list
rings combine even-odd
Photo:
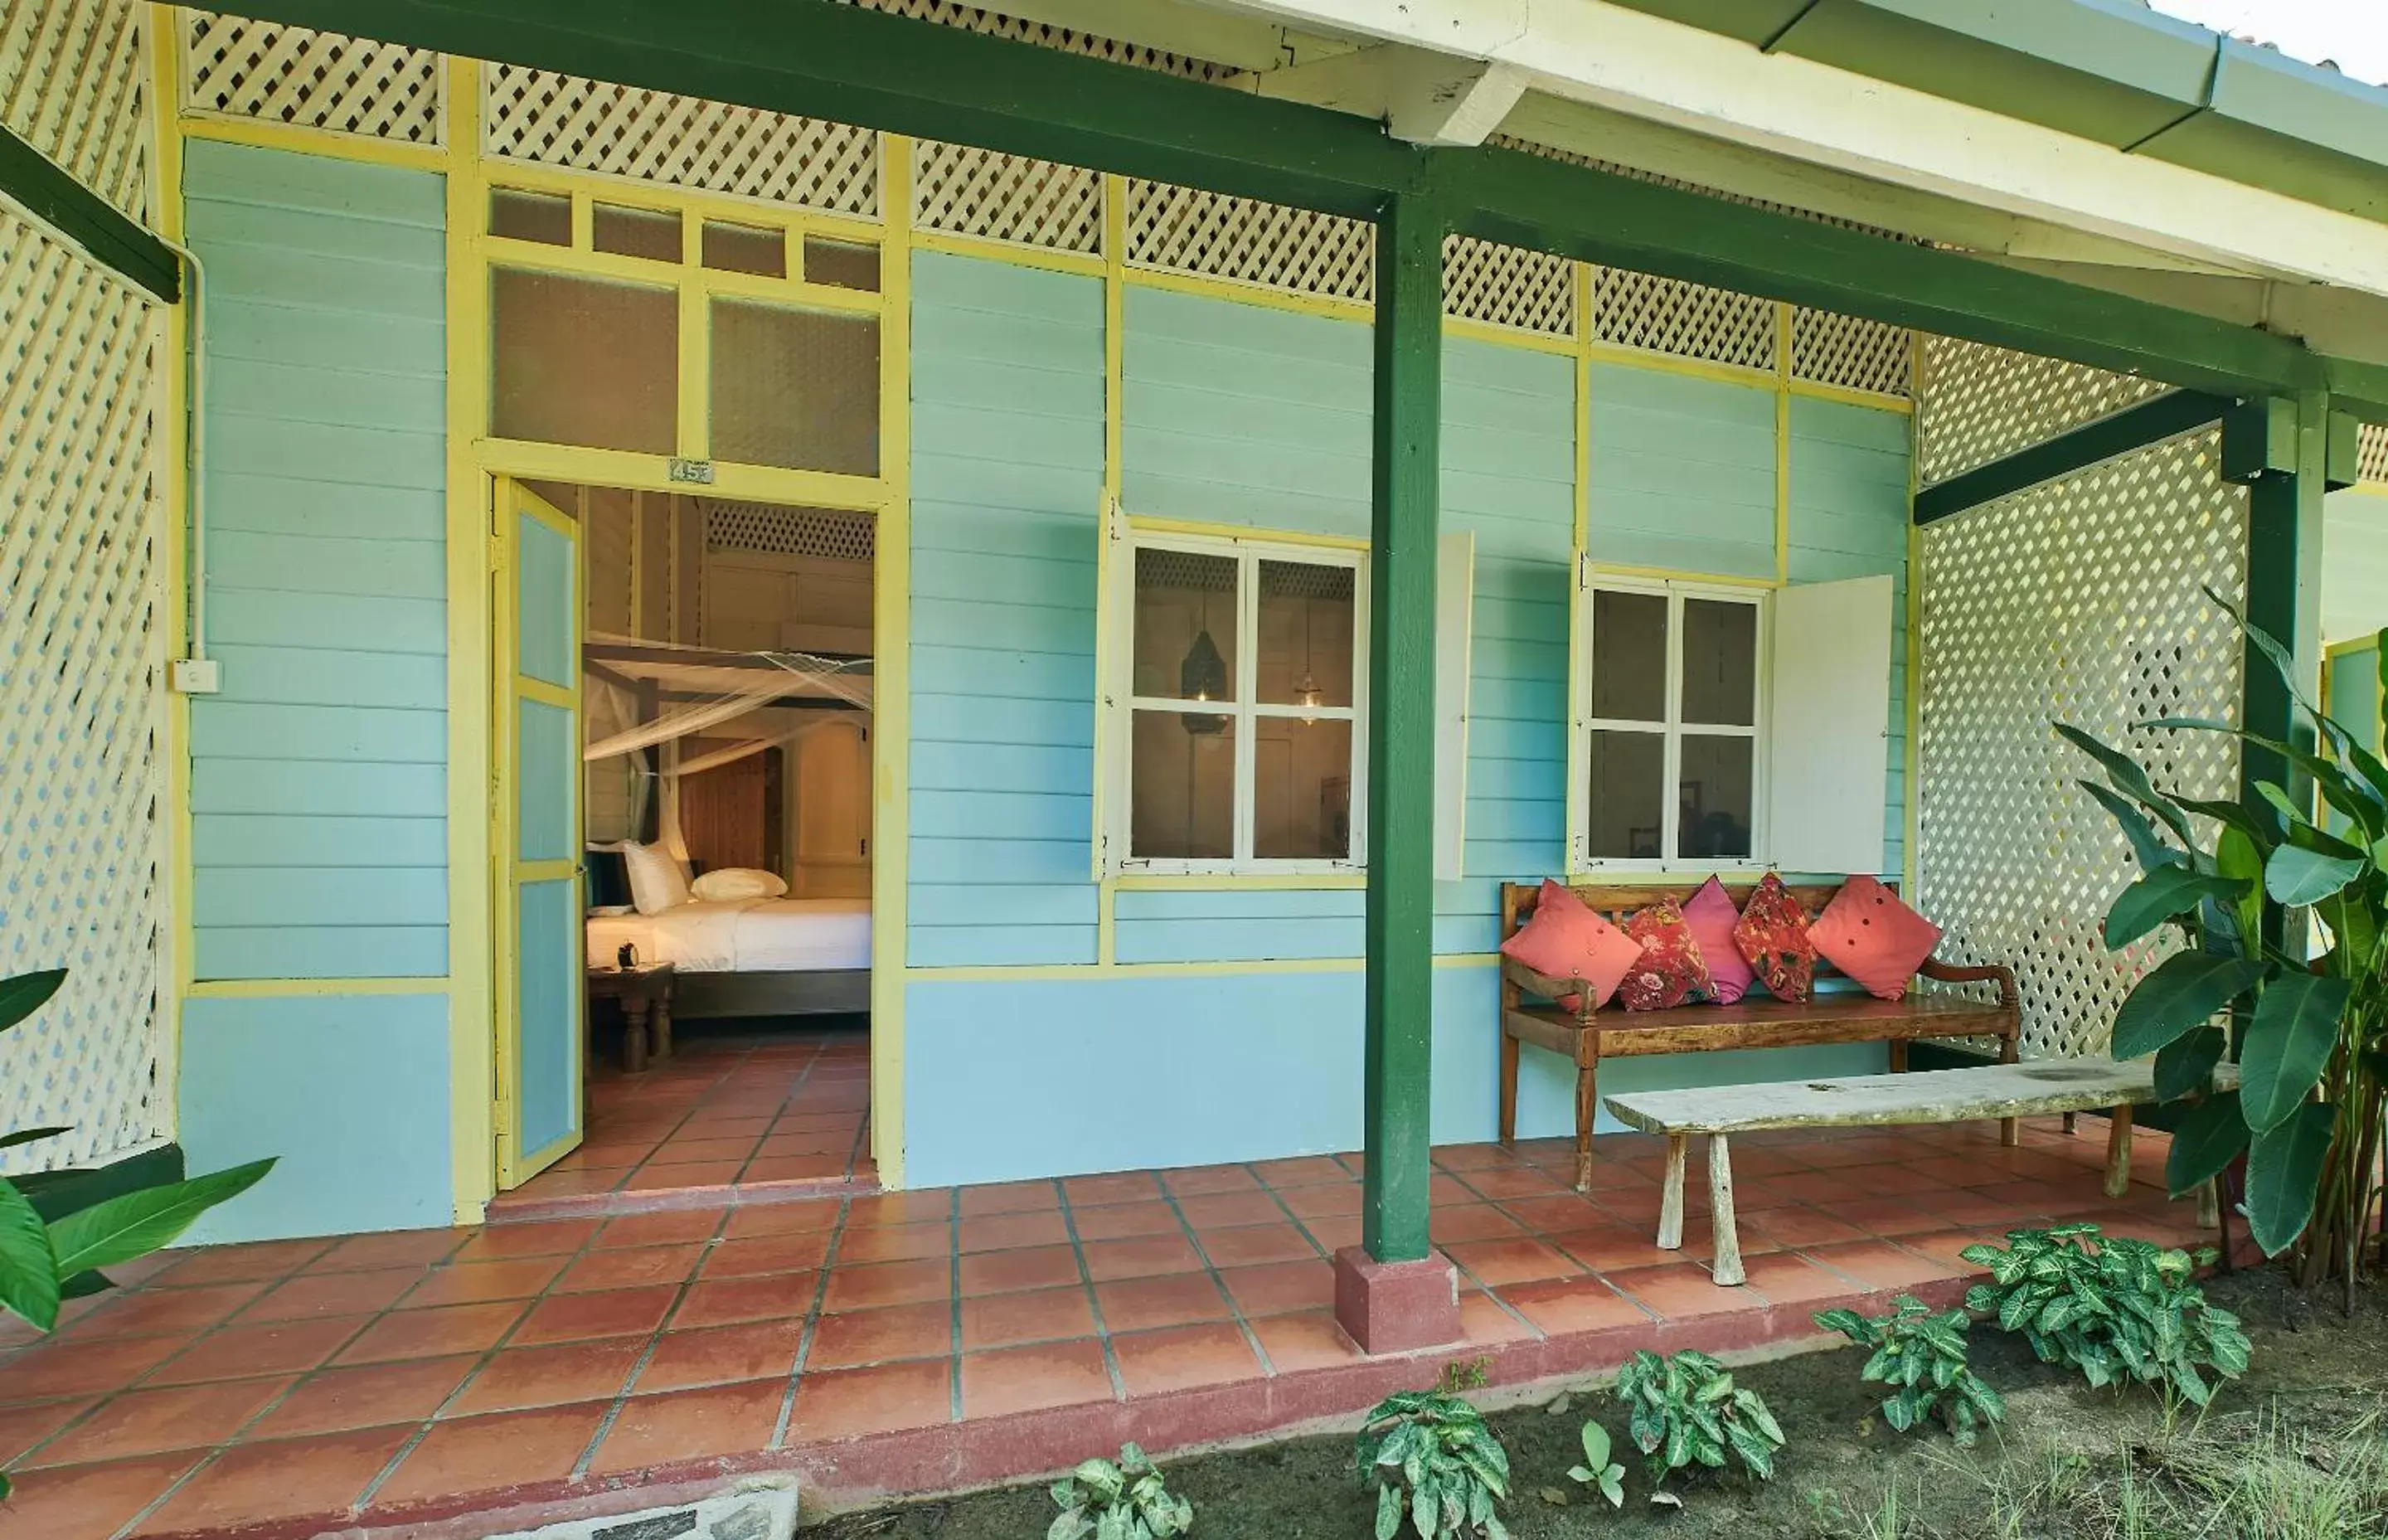
[(1569, 786), (1578, 869), (1765, 864), (1770, 597), (1586, 571)]

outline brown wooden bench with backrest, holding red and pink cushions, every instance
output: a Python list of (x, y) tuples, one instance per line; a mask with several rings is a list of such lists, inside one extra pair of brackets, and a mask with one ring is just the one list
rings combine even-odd
[[(1748, 903), (1753, 881), (1724, 883), (1734, 907)], [(1624, 922), (1633, 910), (1643, 910), (1662, 898), (1684, 903), (1695, 888), (1643, 888), (1643, 886), (1586, 886), (1576, 898), (1610, 917)], [(1502, 883), (1500, 919), (1502, 936), (1514, 936), (1526, 917), (1540, 883)], [(1791, 883), (1791, 895), (1808, 914), (1820, 914), (1839, 883)], [(1946, 1036), (1994, 1036), (1999, 1039), (1999, 1062), (2015, 1062), (2018, 1031), (2023, 1029), (2023, 1005), (2015, 991), (2015, 974), (2004, 967), (1953, 967), (1927, 960), (1918, 969), (1925, 979), (1944, 984), (1996, 984), (1996, 1003), (1968, 1000), (1951, 993), (1918, 996), (1906, 1000), (1877, 1000), (1870, 993), (1820, 993), (1801, 1003), (1772, 998), (1762, 984), (1734, 1005), (1676, 1005), (1672, 1010), (1590, 1010), (1593, 991), (1581, 979), (1550, 979), (1524, 962), (1502, 957), (1500, 969), (1500, 1141), (1516, 1144), (1516, 1055), (1519, 1043), (1547, 1048), (1576, 1065), (1576, 1191), (1593, 1182), (1593, 1113), (1598, 1108), (1598, 1079), (1602, 1058), (1641, 1053), (1707, 1053), (1710, 1048), (1805, 1048), (1812, 1043), (1889, 1043), (1891, 1070), (1908, 1067), (1908, 1043), (1915, 1039)], [(1562, 996), (1581, 996), (1583, 1010), (1562, 1010)], [(2015, 1141), (2015, 1127), (2006, 1127), (2006, 1141)]]

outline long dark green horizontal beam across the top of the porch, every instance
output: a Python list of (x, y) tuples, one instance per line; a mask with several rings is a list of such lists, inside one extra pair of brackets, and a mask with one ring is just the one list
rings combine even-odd
[[(2037, 0), (2035, 0), (2037, 2)], [(2073, 2), (2073, 0), (2066, 0)], [(1447, 189), (1457, 229), (2214, 394), (2328, 389), (2388, 423), (2388, 368), (1951, 251), (833, 0), (258, 0), (267, 21), (439, 48), (1375, 217)]]

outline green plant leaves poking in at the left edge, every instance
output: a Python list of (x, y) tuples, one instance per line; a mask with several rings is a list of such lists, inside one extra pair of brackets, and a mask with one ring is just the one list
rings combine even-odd
[[(0, 979), (0, 1031), (41, 1010), (64, 981), (64, 969)], [(0, 1148), (38, 1144), (64, 1132), (64, 1127), (14, 1129), (0, 1134)], [(33, 1330), (48, 1332), (57, 1325), (64, 1301), (115, 1287), (105, 1268), (170, 1244), (201, 1213), (256, 1187), (272, 1165), (253, 1160), (189, 1182), (143, 1187), (57, 1218), (43, 1218), (36, 1199), (88, 1172), (45, 1170), (0, 1177), (0, 1306), (21, 1316)], [(7, 1495), (10, 1480), (0, 1473), (0, 1499)]]

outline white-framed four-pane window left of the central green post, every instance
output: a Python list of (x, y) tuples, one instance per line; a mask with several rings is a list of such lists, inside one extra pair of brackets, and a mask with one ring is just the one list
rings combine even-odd
[(1113, 540), (1106, 869), (1361, 869), (1366, 556), (1130, 520)]

